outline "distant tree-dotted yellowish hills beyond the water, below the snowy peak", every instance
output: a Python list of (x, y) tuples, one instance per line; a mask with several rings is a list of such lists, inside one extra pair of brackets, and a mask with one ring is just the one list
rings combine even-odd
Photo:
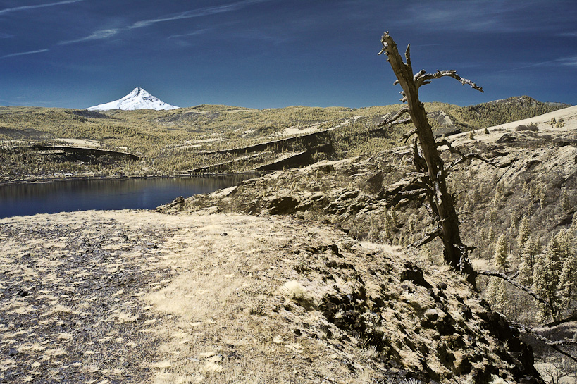
[[(131, 94), (149, 99), (144, 92), (137, 88)], [(563, 107), (530, 97), (464, 107), (426, 103), (437, 135), (480, 130)], [(288, 106), (259, 110), (203, 104), (169, 110), (89, 111), (0, 106), (0, 145), (9, 151), (1, 152), (0, 178), (270, 170), (304, 166), (321, 159), (377, 154), (397, 147), (399, 138), (410, 129), (407, 124), (377, 127), (387, 114), (399, 108), (396, 104), (359, 109)], [(68, 155), (17, 149), (36, 144), (97, 147), (135, 154), (141, 160), (118, 165), (106, 158), (87, 162)]]

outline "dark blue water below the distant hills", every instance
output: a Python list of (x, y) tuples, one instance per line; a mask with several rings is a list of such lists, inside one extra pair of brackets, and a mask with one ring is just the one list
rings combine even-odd
[(1, 185), (0, 218), (89, 209), (155, 209), (179, 196), (210, 193), (254, 177), (237, 174)]

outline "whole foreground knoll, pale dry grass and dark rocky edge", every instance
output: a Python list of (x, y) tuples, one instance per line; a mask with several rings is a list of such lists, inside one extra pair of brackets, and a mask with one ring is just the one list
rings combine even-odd
[(542, 383), (447, 268), (330, 225), (211, 211), (1, 219), (0, 380)]

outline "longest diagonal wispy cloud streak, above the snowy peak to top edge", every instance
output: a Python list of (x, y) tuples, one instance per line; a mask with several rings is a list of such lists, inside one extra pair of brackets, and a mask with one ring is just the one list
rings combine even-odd
[[(81, 0), (80, 0), (81, 1)], [(211, 16), (216, 15), (217, 13), (225, 13), (225, 12), (232, 12), (237, 11), (245, 6), (250, 6), (252, 4), (263, 3), (265, 1), (270, 0), (243, 0), (237, 1), (236, 3), (227, 4), (224, 6), (209, 6), (204, 8), (193, 9), (191, 11), (184, 11), (180, 13), (172, 13), (170, 15), (161, 16), (159, 18), (153, 18), (148, 20), (139, 20), (132, 25), (128, 25), (126, 27), (120, 27), (115, 29), (108, 29), (108, 30), (97, 30), (96, 32), (92, 32), (91, 35), (86, 37), (81, 37), (80, 39), (72, 39), (72, 40), (65, 40), (62, 42), (58, 42), (58, 44), (73, 44), (79, 42), (87, 42), (90, 40), (102, 40), (108, 39), (109, 37), (113, 37), (118, 33), (124, 30), (135, 30), (138, 28), (149, 27), (150, 25), (154, 25), (156, 23), (163, 23), (166, 21), (173, 21), (173, 20), (182, 20), (187, 18), (199, 18), (202, 16)]]

